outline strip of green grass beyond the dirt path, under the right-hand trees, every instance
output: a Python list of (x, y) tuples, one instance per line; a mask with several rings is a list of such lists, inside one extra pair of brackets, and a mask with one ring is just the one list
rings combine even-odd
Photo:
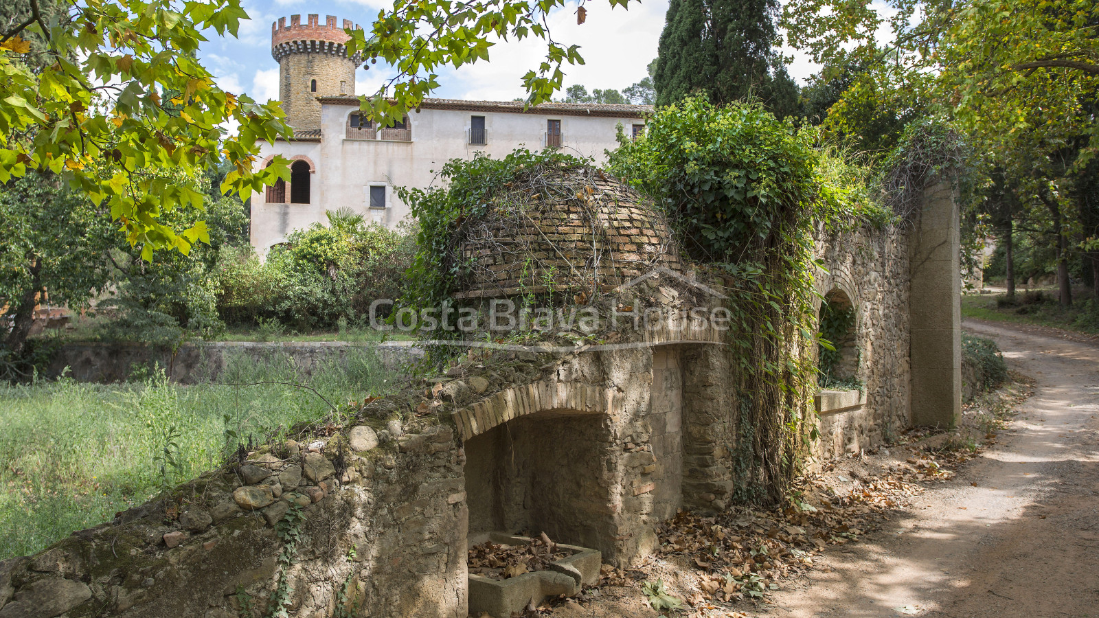
[(1089, 334), (1099, 334), (1099, 307), (1088, 297), (1090, 290), (1074, 291), (1073, 307), (1062, 309), (1057, 291), (1043, 289), (1042, 299), (1026, 293), (1015, 293), (1015, 304), (1006, 304), (1006, 294), (969, 294), (962, 297), (962, 316), (997, 322), (1015, 322), (1054, 327)]

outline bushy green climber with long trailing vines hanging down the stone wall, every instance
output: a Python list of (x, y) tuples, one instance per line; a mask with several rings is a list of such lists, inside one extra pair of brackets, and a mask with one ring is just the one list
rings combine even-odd
[[(682, 246), (730, 282), (740, 398), (735, 494), (779, 501), (810, 437), (814, 224), (844, 205), (822, 194), (815, 134), (762, 106), (699, 98), (660, 109), (609, 167), (668, 213)], [(824, 199), (828, 197), (828, 199)]]

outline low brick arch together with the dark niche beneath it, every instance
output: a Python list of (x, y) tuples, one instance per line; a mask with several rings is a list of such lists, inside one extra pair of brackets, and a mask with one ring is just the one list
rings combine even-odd
[[(613, 555), (606, 390), (542, 382), (509, 388), (456, 415), (465, 450), (469, 541), (537, 536)], [(474, 429), (470, 429), (474, 428)]]

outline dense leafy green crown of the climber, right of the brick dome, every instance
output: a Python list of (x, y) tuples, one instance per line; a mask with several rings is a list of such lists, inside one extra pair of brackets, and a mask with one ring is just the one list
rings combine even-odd
[(782, 242), (787, 219), (815, 202), (815, 136), (758, 103), (687, 98), (660, 109), (608, 167), (656, 199), (687, 253), (735, 263), (750, 246)]

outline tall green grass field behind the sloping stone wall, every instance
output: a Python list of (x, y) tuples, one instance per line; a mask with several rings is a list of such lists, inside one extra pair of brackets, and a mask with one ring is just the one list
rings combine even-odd
[[(299, 382), (336, 407), (384, 393), (393, 382), (370, 350), (333, 361), (300, 379), (288, 357), (231, 360), (222, 382)], [(237, 440), (260, 441), (331, 408), (310, 390), (285, 385), (180, 386), (163, 375), (99, 385), (71, 379), (0, 385), (0, 560), (26, 555), (110, 520), (217, 466)], [(166, 434), (175, 428), (177, 466), (162, 475)]]

